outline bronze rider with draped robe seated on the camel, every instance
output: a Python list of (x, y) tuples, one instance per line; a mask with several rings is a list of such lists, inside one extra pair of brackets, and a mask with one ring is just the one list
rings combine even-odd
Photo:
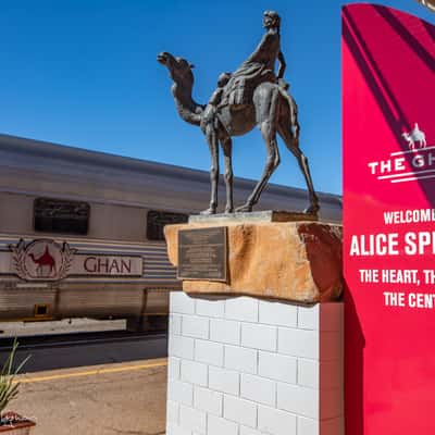
[[(283, 80), (286, 63), (281, 51), (279, 15), (274, 11), (263, 14), (263, 27), (266, 29), (256, 51), (233, 73), (225, 86), (220, 107), (247, 104), (252, 100), (257, 86), (264, 82), (277, 83), (288, 89)], [(275, 62), (279, 69), (275, 75)]]

